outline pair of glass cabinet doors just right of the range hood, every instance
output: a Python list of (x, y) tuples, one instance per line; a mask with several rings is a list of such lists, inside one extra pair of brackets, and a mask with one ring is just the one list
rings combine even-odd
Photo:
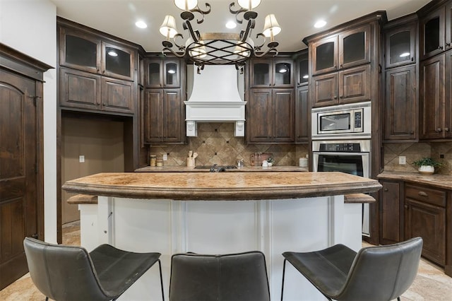
[(251, 88), (292, 88), (292, 59), (251, 60)]

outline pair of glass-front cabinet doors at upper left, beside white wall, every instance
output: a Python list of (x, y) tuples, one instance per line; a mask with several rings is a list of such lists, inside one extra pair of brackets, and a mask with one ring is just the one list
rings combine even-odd
[(60, 65), (134, 81), (136, 51), (73, 28), (59, 30)]

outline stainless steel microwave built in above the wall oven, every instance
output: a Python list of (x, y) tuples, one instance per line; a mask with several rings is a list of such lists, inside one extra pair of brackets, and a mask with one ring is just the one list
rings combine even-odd
[(312, 109), (312, 138), (370, 138), (371, 102)]

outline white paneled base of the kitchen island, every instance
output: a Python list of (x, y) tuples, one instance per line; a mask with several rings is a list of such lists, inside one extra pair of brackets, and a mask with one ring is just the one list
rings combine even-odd
[[(280, 300), (286, 251), (309, 252), (342, 243), (357, 251), (362, 242), (362, 204), (344, 197), (257, 201), (172, 201), (99, 196), (81, 204), (81, 245), (112, 244), (133, 252), (160, 252), (165, 300), (172, 254), (266, 254), (271, 300)], [(119, 300), (161, 300), (157, 265)], [(325, 300), (290, 264), (284, 300)]]

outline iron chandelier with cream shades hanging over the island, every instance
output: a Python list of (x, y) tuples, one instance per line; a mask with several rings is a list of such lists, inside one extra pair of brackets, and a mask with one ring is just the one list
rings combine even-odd
[[(256, 39), (263, 40), (261, 44), (255, 45), (251, 39), (251, 31), (256, 24), (258, 13), (253, 11), (261, 0), (237, 0), (240, 8), (234, 10), (235, 4), (229, 6), (230, 13), (235, 15), (236, 21), (242, 24), (246, 20), (246, 28), (240, 33), (199, 33), (194, 30), (191, 21), (198, 13), (201, 18), (196, 19), (196, 23), (201, 24), (204, 16), (210, 13), (210, 4), (206, 3), (206, 9), (202, 10), (198, 6), (198, 0), (174, 0), (174, 5), (182, 10), (182, 26), (189, 33), (189, 38), (183, 42), (183, 35), (177, 32), (176, 20), (173, 16), (165, 16), (160, 33), (165, 36), (162, 42), (162, 53), (171, 52), (177, 57), (184, 57), (193, 61), (198, 66), (198, 73), (204, 69), (204, 65), (227, 65), (234, 64), (237, 70), (243, 72), (246, 60), (251, 57), (263, 57), (269, 52), (278, 54), (279, 43), (275, 41), (275, 35), (280, 33), (281, 28), (275, 15), (272, 13), (265, 18), (262, 33), (256, 35)], [(261, 49), (266, 44), (266, 38), (270, 38), (267, 49)]]

